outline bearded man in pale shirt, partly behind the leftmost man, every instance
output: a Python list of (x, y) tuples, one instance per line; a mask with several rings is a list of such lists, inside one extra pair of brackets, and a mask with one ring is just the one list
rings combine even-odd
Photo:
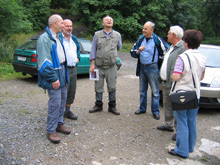
[(76, 82), (77, 82), (77, 67), (80, 60), (80, 45), (77, 38), (72, 35), (72, 21), (66, 19), (64, 22), (63, 33), (60, 34), (60, 40), (64, 45), (66, 58), (67, 58), (67, 67), (69, 73), (70, 84), (67, 87), (67, 100), (66, 100), (66, 109), (64, 112), (64, 117), (71, 120), (77, 120), (75, 116), (70, 111), (70, 106), (73, 104), (76, 94)]

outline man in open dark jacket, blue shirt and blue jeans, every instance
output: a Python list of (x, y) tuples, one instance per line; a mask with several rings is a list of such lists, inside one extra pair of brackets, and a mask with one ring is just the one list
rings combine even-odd
[(151, 112), (156, 120), (160, 119), (159, 110), (159, 57), (164, 54), (169, 45), (158, 37), (154, 31), (154, 23), (146, 22), (143, 26), (143, 35), (132, 47), (130, 53), (134, 58), (138, 58), (137, 76), (140, 80), (140, 107), (135, 112), (136, 115), (146, 113), (148, 84), (151, 87)]

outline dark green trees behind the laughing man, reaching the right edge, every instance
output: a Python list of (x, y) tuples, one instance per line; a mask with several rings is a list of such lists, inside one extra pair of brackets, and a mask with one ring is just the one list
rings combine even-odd
[[(206, 35), (216, 30), (215, 35), (218, 35), (220, 19), (215, 15), (220, 13), (219, 5), (220, 0), (74, 0), (70, 13), (78, 15), (91, 33), (101, 29), (102, 18), (110, 15), (114, 19), (114, 29), (121, 32), (124, 39), (134, 40), (148, 20), (156, 24), (155, 32), (163, 38), (171, 25), (199, 29)], [(210, 12), (212, 6), (214, 11)], [(204, 26), (204, 22), (208, 26)]]

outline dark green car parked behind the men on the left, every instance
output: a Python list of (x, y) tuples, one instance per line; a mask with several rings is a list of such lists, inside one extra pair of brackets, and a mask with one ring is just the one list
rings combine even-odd
[[(30, 74), (31, 76), (38, 76), (36, 55), (37, 39), (38, 38), (34, 38), (15, 49), (12, 64), (16, 72), (22, 72), (23, 75)], [(81, 47), (81, 59), (77, 65), (77, 74), (88, 74), (91, 64), (89, 56), (92, 48), (92, 42), (87, 39), (78, 39), (78, 41)], [(118, 57), (118, 70), (121, 65), (121, 60)]]

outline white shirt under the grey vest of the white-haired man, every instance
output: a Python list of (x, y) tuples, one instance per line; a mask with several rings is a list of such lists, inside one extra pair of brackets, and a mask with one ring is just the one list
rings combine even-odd
[(160, 69), (160, 78), (163, 81), (167, 80), (167, 61), (168, 61), (168, 58), (170, 56), (170, 53), (173, 51), (173, 48), (174, 48), (174, 46), (171, 45), (168, 52), (164, 55), (163, 63), (162, 63), (161, 69)]

